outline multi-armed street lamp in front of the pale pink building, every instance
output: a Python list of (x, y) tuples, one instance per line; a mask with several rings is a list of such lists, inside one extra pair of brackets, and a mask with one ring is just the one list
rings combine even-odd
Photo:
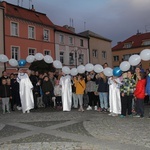
[(81, 49), (74, 49), (71, 51), (71, 58), (70, 58), (70, 63), (74, 63), (74, 58), (73, 58), (73, 53), (75, 54), (75, 66), (77, 68), (78, 62), (83, 63), (83, 58), (81, 57), (82, 51)]

